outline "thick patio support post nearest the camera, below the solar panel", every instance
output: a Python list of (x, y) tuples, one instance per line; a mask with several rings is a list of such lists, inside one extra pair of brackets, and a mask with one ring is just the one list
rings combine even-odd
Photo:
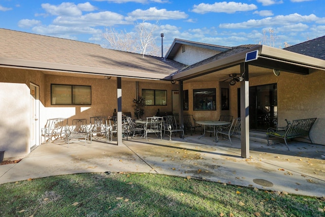
[(240, 82), (241, 157), (249, 157), (249, 81), (248, 64), (240, 64), (244, 80)]

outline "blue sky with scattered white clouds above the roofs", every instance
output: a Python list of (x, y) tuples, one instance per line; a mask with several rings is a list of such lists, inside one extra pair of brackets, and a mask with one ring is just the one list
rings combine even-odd
[(107, 27), (134, 32), (143, 20), (148, 26), (158, 24), (156, 44), (161, 45), (164, 33), (164, 49), (175, 38), (283, 48), (285, 43), (325, 35), (325, 4), (324, 0), (0, 0), (1, 28), (101, 45)]

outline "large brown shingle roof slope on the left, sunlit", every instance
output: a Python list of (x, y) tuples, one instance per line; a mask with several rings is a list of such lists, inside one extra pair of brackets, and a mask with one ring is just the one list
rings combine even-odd
[(0, 28), (0, 57), (170, 75), (185, 66), (100, 45)]

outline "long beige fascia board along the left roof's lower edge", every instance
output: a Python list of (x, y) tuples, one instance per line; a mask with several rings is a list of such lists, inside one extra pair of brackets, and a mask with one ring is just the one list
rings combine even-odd
[(171, 76), (156, 73), (146, 73), (138, 71), (127, 71), (118, 69), (107, 69), (97, 67), (85, 67), (68, 64), (56, 64), (35, 60), (17, 59), (0, 57), (0, 66), (8, 68), (22, 68), (22, 69), (34, 69), (52, 72), (63, 73), (82, 73), (92, 75), (110, 75), (116, 77), (128, 77), (139, 79), (154, 79), (154, 80), (171, 80)]

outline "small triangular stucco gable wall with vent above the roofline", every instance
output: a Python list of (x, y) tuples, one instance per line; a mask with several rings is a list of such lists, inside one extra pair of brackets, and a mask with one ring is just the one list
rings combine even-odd
[(220, 53), (219, 51), (216, 50), (199, 48), (190, 45), (184, 45), (184, 46), (185, 46), (185, 52), (182, 52), (182, 46), (181, 46), (180, 49), (177, 51), (173, 60), (188, 66), (198, 63), (201, 60), (207, 59), (211, 56)]

